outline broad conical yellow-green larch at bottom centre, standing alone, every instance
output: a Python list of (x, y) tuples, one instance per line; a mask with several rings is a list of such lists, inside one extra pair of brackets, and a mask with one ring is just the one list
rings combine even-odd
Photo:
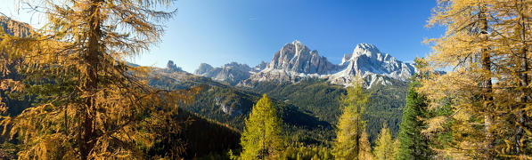
[(258, 100), (241, 134), (241, 159), (271, 159), (281, 156), (282, 119), (266, 94)]

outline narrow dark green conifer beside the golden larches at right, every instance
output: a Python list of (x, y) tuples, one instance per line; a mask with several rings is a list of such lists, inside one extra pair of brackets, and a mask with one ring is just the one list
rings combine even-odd
[(424, 96), (415, 92), (419, 82), (410, 85), (406, 96), (406, 106), (403, 110), (403, 119), (397, 139), (399, 148), (397, 159), (429, 159), (430, 148), (428, 141), (421, 134), (423, 122), (420, 117), (425, 117), (427, 100)]

